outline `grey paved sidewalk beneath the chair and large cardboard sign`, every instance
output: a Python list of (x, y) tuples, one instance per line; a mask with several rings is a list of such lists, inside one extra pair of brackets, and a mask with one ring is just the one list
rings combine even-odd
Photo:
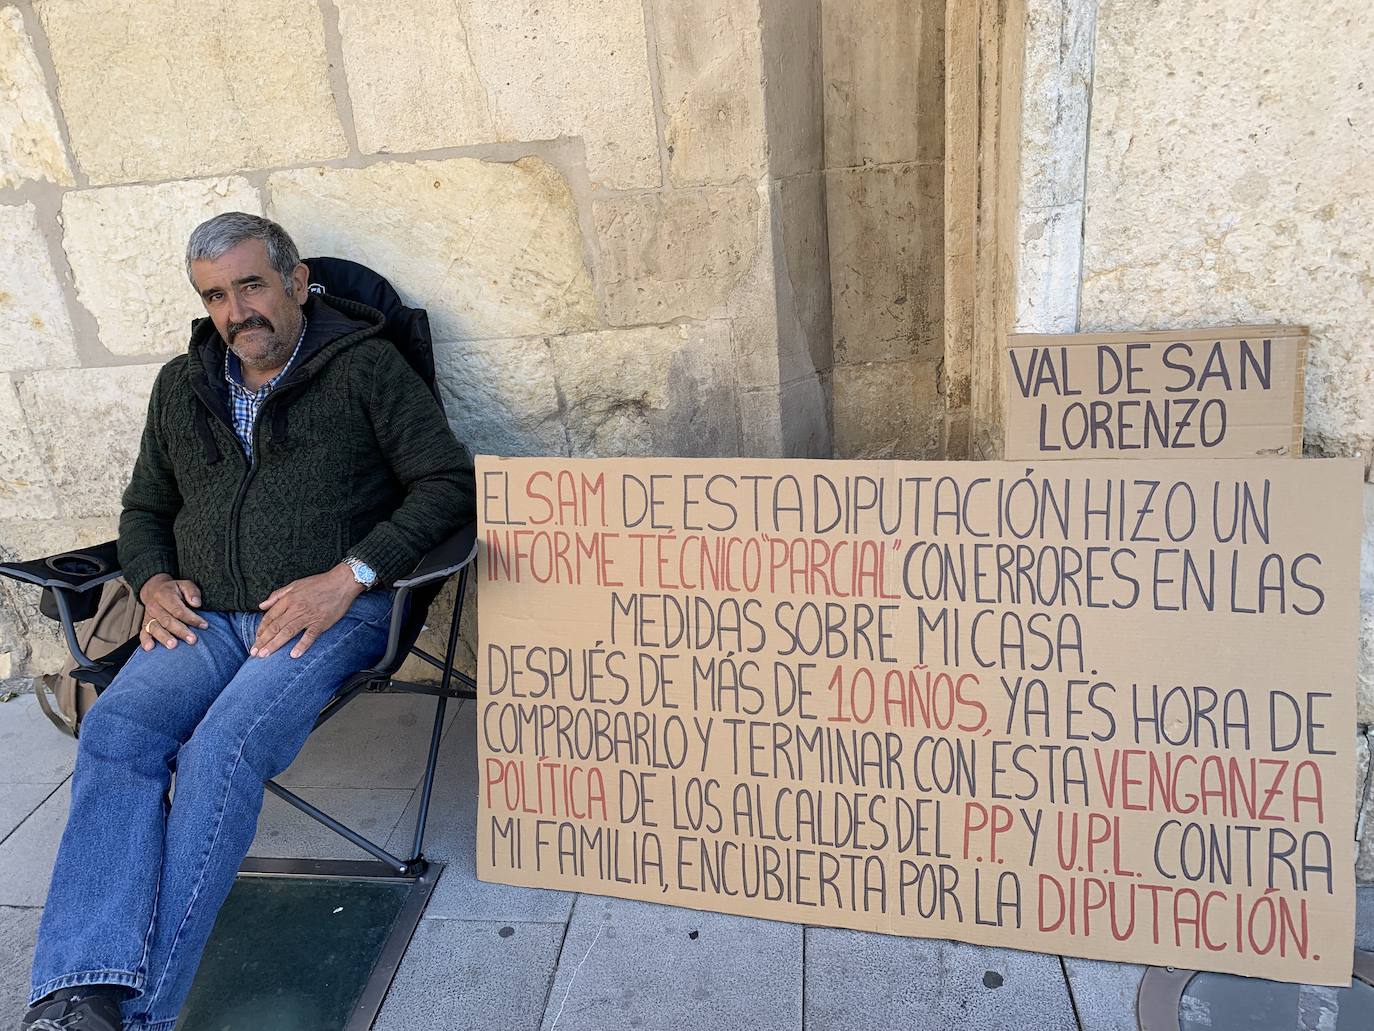
[[(283, 781), (404, 850), (433, 701), (368, 696)], [(511, 888), (475, 877), (474, 709), (451, 707), (426, 852), (447, 863), (376, 1031), (1135, 1031), (1142, 966)], [(74, 744), (0, 704), (0, 1027), (18, 1015)], [(268, 796), (253, 855), (367, 858)], [(1374, 949), (1374, 888), (1359, 943)]]

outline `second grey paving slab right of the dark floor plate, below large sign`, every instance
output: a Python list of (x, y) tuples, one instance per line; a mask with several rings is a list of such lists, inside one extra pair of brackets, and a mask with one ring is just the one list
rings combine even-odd
[(801, 927), (581, 895), (544, 1031), (801, 1027)]

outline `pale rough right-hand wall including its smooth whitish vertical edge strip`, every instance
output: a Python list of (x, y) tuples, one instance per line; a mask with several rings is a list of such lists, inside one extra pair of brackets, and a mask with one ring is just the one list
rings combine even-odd
[(1367, 481), (1374, 880), (1374, 22), (1359, 0), (1026, 7), (1015, 329), (1311, 327), (1307, 454), (1359, 456)]

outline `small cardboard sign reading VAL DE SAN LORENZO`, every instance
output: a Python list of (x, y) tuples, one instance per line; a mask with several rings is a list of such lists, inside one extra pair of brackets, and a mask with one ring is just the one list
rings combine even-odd
[(1298, 456), (1305, 362), (1301, 326), (1013, 334), (1003, 454)]

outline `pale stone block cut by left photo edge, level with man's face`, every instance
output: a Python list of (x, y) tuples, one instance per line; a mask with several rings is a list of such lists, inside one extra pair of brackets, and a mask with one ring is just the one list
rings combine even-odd
[(77, 360), (71, 320), (32, 203), (0, 205), (0, 368)]

